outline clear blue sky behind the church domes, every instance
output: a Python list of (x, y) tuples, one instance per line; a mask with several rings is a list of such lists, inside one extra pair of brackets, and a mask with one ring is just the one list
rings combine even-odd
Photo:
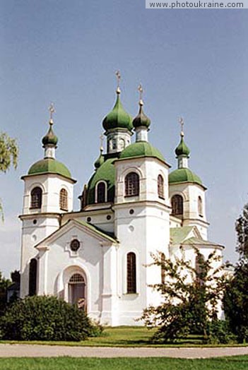
[(247, 202), (247, 10), (148, 10), (141, 0), (0, 1), (0, 131), (16, 137), (18, 169), (0, 174), (5, 223), (0, 270), (19, 268), (23, 181), (43, 156), (54, 102), (57, 159), (78, 180), (98, 157), (102, 119), (122, 102), (135, 115), (145, 90), (149, 140), (175, 169), (184, 117), (190, 167), (208, 187), (209, 239), (235, 261), (235, 219)]

